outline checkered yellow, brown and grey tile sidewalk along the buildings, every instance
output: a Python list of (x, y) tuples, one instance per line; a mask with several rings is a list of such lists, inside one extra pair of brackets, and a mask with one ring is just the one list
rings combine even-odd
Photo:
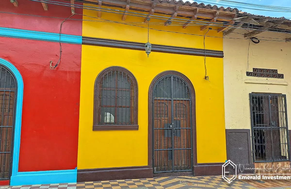
[(1, 186), (0, 189), (123, 189), (123, 188), (143, 188), (143, 189), (248, 189), (256, 188), (244, 181), (235, 180), (232, 183), (225, 182), (221, 176), (174, 176), (159, 177), (151, 179), (127, 179), (113, 181), (95, 181), (80, 183), (61, 184), (38, 184), (24, 186)]

